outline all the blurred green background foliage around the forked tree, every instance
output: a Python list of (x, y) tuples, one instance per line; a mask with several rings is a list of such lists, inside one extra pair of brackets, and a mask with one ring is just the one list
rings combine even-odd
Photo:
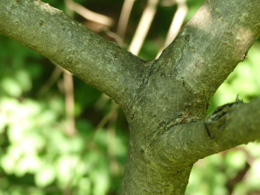
[[(65, 10), (63, 1), (45, 2)], [(123, 1), (77, 2), (117, 20)], [(186, 22), (201, 3), (187, 1)], [(134, 5), (127, 44), (144, 5), (142, 0)], [(153, 59), (157, 55), (176, 9), (176, 5), (159, 6), (141, 57)], [(235, 101), (237, 94), (245, 102), (260, 96), (259, 63), (260, 43), (256, 42), (248, 58), (220, 86), (211, 100), (209, 114), (217, 106)], [(96, 129), (111, 113), (113, 103), (74, 77), (77, 133), (67, 135), (63, 78), (59, 77), (46, 93), (39, 93), (54, 68), (41, 55), (0, 36), (0, 195), (118, 194), (129, 136), (122, 110), (116, 112), (114, 124), (108, 121)], [(110, 138), (114, 138), (113, 142)], [(256, 142), (198, 161), (186, 194), (260, 193), (259, 186), (260, 144)]]

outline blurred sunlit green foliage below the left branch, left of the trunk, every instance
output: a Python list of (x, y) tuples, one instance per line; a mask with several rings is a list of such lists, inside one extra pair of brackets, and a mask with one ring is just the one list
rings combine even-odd
[(38, 96), (51, 62), (3, 36), (0, 53), (0, 194), (117, 192), (127, 155), (125, 118), (116, 124), (119, 172), (112, 176), (107, 129), (95, 127), (111, 103), (96, 109), (101, 93), (75, 78), (77, 134), (68, 136), (63, 92), (53, 86)]

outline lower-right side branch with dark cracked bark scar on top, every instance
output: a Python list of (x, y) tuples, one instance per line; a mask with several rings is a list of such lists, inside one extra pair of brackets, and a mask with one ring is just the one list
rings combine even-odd
[(193, 164), (198, 159), (260, 139), (260, 97), (250, 103), (232, 103), (216, 109), (205, 120), (176, 125), (155, 148), (164, 164)]

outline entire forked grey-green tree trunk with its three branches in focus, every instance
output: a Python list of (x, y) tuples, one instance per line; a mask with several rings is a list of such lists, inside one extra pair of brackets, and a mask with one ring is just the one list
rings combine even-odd
[(0, 32), (112, 96), (130, 140), (122, 194), (184, 194), (200, 158), (260, 138), (260, 99), (209, 100), (260, 34), (259, 0), (205, 1), (158, 60), (145, 62), (38, 0), (1, 0)]

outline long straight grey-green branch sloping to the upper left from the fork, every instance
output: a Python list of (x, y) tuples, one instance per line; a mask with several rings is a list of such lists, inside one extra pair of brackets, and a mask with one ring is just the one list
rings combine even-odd
[(122, 105), (142, 82), (145, 63), (140, 58), (39, 0), (0, 1), (0, 33), (60, 64)]

